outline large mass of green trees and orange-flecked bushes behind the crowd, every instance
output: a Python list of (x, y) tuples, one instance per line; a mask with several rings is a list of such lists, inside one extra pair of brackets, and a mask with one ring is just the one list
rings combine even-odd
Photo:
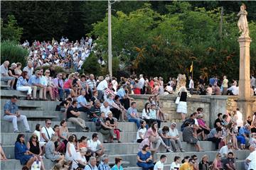
[[(145, 4), (129, 14), (117, 11), (112, 16), (112, 53), (124, 69), (147, 76), (194, 77), (228, 75), (239, 77), (238, 28), (235, 13), (225, 14), (219, 33), (220, 8), (191, 8), (188, 2), (166, 6), (169, 13), (160, 14)], [(91, 32), (97, 39), (97, 52), (107, 60), (107, 16)], [(256, 38), (255, 23), (250, 22), (250, 37)], [(255, 72), (256, 47), (251, 45), (251, 68)]]

